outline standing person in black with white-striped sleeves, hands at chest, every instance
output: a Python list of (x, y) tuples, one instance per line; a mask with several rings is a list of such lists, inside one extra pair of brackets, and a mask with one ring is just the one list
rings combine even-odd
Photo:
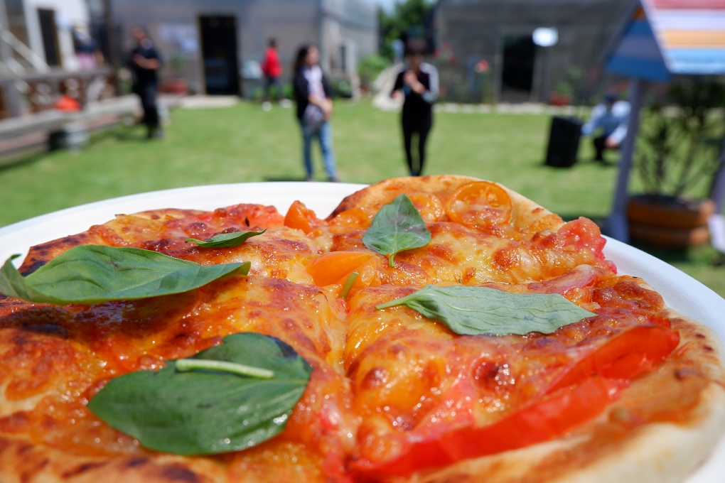
[[(438, 70), (423, 62), (424, 41), (405, 46), (405, 65), (395, 79), (391, 96), (405, 96), (402, 110), (403, 144), (411, 176), (420, 176), (426, 161), (426, 140), (433, 125), (433, 103), (438, 98)], [(413, 136), (418, 137), (418, 159), (413, 156)], [(417, 161), (417, 162), (416, 162)]]

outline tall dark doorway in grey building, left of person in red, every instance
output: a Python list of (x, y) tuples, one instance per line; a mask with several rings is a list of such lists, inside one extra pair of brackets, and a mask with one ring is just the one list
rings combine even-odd
[(239, 95), (236, 18), (233, 15), (202, 15), (199, 28), (207, 94)]

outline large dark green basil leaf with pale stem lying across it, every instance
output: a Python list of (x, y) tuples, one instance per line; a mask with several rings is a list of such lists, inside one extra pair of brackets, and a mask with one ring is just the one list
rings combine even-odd
[(251, 332), (192, 359), (273, 371), (256, 379), (222, 371), (137, 371), (116, 377), (88, 403), (96, 416), (146, 448), (209, 455), (251, 448), (279, 434), (310, 381), (312, 367), (289, 345)]

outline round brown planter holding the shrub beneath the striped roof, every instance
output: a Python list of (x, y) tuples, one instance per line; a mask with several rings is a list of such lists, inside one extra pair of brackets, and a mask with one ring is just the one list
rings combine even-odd
[(637, 195), (629, 198), (629, 235), (650, 245), (671, 248), (702, 245), (710, 240), (712, 200)]

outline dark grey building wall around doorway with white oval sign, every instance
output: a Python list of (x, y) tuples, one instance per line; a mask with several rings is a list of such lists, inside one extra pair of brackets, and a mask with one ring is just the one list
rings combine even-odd
[[(451, 98), (480, 100), (480, 85), (471, 85), (472, 66), (489, 62), (492, 96), (502, 96), (503, 43), (507, 36), (531, 35), (535, 28), (555, 27), (555, 46), (536, 47), (534, 88), (528, 99), (547, 101), (558, 83), (571, 80), (569, 67), (583, 72), (573, 85), (581, 100), (602, 86), (600, 56), (624, 14), (636, 0), (440, 0), (436, 9), (438, 46), (447, 43), (456, 64), (442, 62), (442, 85)], [(570, 71), (571, 72), (571, 71)], [(475, 79), (474, 79), (475, 80)]]

